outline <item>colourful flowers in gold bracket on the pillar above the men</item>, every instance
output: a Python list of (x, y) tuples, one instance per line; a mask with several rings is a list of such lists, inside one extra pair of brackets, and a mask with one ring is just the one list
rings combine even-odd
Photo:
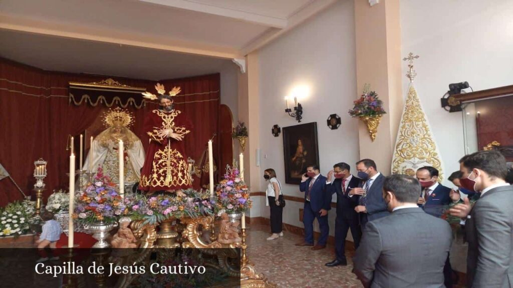
[(360, 98), (353, 101), (354, 107), (349, 110), (351, 117), (359, 117), (367, 126), (372, 141), (376, 139), (378, 126), (381, 117), (386, 114), (383, 109), (383, 101), (378, 98), (378, 94), (370, 91), (370, 85), (365, 84), (363, 94)]

